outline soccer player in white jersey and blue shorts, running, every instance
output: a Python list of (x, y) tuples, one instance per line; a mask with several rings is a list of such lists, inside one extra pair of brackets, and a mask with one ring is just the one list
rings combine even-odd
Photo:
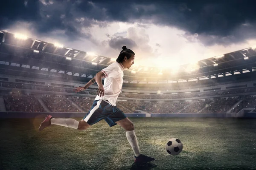
[[(134, 52), (127, 49), (126, 46), (123, 46), (122, 49), (116, 62), (98, 72), (96, 77), (93, 77), (84, 87), (77, 87), (74, 90), (75, 92), (84, 91), (95, 82), (97, 82), (99, 86), (93, 105), (83, 119), (80, 121), (76, 121), (75, 119), (55, 119), (52, 118), (51, 115), (48, 115), (41, 123), (39, 131), (50, 125), (60, 125), (78, 130), (86, 130), (91, 125), (105, 119), (110, 127), (120, 125), (125, 129), (126, 137), (135, 154), (134, 161), (136, 163), (154, 161), (154, 158), (140, 154), (140, 148), (134, 132), (134, 124), (128, 119), (125, 113), (116, 107), (116, 99), (122, 90), (123, 71), (125, 68), (129, 69), (131, 65), (134, 64), (135, 57)], [(105, 77), (104, 85), (102, 85), (103, 77)]]

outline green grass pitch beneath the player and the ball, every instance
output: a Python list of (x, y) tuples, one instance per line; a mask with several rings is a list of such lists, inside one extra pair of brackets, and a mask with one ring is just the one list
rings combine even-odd
[[(131, 120), (141, 153), (155, 161), (134, 164), (125, 131), (105, 121), (85, 131), (52, 125), (39, 132), (43, 119), (1, 119), (0, 169), (256, 169), (256, 119)], [(172, 137), (183, 143), (177, 156), (165, 150)]]

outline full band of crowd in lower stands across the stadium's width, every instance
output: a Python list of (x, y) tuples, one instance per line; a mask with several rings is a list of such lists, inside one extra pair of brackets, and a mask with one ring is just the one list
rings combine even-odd
[[(40, 96), (40, 95), (39, 95)], [(85, 112), (93, 104), (94, 98), (66, 98), (62, 96), (40, 96), (42, 102), (51, 112)], [(25, 94), (9, 94), (3, 96), (6, 111), (45, 112), (38, 97)], [(239, 103), (240, 102), (240, 103)], [(239, 103), (239, 104), (238, 104)], [(235, 107), (235, 105), (237, 105)], [(255, 108), (256, 97), (218, 98), (186, 101), (136, 101), (117, 100), (116, 106), (124, 113), (225, 113), (238, 112), (242, 108)], [(235, 107), (235, 108), (233, 108)], [(233, 109), (232, 109), (233, 108)]]

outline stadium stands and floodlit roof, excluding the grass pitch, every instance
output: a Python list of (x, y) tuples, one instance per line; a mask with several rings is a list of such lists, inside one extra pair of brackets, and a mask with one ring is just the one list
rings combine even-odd
[[(117, 58), (117, 56), (116, 56)], [(116, 59), (0, 31), (1, 117), (82, 117), (98, 86), (74, 93)], [(180, 67), (124, 71), (117, 107), (138, 117), (256, 117), (256, 49)], [(103, 80), (102, 80), (103, 82)], [(33, 114), (32, 114), (32, 113)]]

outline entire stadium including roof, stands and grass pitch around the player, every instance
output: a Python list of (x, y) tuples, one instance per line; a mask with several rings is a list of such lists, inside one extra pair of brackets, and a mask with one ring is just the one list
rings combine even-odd
[[(116, 105), (134, 122), (141, 150), (155, 156), (152, 164), (132, 164), (123, 130), (109, 128), (104, 121), (83, 132), (55, 126), (38, 133), (49, 113), (81, 119), (90, 110), (98, 86), (79, 93), (73, 89), (113, 62), (0, 31), (0, 169), (256, 168), (253, 47), (175, 69), (134, 66), (124, 71)], [(164, 146), (172, 137), (184, 146), (171, 157)], [(43, 146), (47, 150), (42, 152)], [(46, 165), (49, 156), (53, 157)]]

